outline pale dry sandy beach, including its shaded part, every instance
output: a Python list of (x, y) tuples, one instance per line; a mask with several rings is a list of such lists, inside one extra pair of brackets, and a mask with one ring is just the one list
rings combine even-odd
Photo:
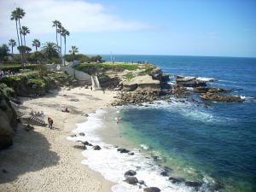
[[(45, 119), (54, 120), (54, 129), (34, 126), (34, 131), (25, 131), (22, 125), (18, 127), (14, 145), (0, 151), (0, 191), (111, 191), (113, 183), (82, 165), (82, 150), (73, 148), (67, 137), (76, 123), (86, 120), (86, 114), (107, 107), (115, 95), (78, 87), (22, 98), (20, 110), (44, 111)], [(61, 112), (66, 107), (70, 113)]]

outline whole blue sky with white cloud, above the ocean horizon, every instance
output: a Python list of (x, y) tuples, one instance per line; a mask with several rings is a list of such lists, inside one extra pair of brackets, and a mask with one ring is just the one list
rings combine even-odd
[(17, 41), (16, 7), (26, 12), (30, 47), (35, 38), (55, 42), (52, 21), (60, 20), (67, 50), (85, 55), (256, 57), (255, 0), (0, 0), (0, 44)]

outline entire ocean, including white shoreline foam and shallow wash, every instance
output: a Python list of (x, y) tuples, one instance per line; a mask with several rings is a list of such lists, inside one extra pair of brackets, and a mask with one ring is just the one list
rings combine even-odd
[[(231, 89), (230, 95), (242, 96), (245, 102), (205, 102), (192, 94), (186, 100), (170, 96), (143, 106), (99, 109), (74, 131), (84, 131), (87, 141), (102, 146), (101, 151), (85, 150), (84, 164), (118, 183), (114, 192), (143, 191), (144, 185), (140, 189), (124, 182), (130, 169), (148, 187), (164, 192), (256, 191), (256, 58), (114, 57), (115, 61), (149, 61), (171, 75), (169, 84), (177, 74), (218, 79), (207, 84)], [(110, 55), (103, 58), (109, 61)], [(120, 154), (115, 145), (129, 148), (134, 155)], [(162, 176), (163, 171), (167, 176)], [(172, 183), (169, 177), (181, 182)], [(188, 181), (200, 184), (192, 187)]]

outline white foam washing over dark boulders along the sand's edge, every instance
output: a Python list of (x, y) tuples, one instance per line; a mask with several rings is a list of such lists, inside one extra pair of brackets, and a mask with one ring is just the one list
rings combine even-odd
[(87, 150), (82, 152), (86, 157), (82, 164), (100, 172), (109, 181), (117, 183), (112, 188), (113, 192), (142, 192), (146, 187), (145, 185), (138, 186), (125, 183), (124, 174), (128, 170), (136, 171), (137, 175), (135, 177), (138, 180), (143, 180), (148, 187), (158, 187), (163, 192), (194, 191), (193, 188), (185, 186), (184, 183), (171, 183), (168, 177), (161, 176), (160, 172), (163, 169), (155, 164), (153, 158), (141, 154), (140, 150), (133, 148), (134, 155), (120, 154), (116, 147), (104, 143), (96, 132), (106, 129), (102, 123), (102, 117), (106, 113), (103, 109), (96, 110), (96, 113), (90, 113), (88, 120), (82, 124), (77, 124), (78, 128), (73, 131), (74, 133), (84, 132), (85, 137), (67, 137), (67, 139), (74, 142), (79, 140), (88, 141), (93, 145), (101, 146), (101, 150), (93, 150), (92, 147), (88, 146)]

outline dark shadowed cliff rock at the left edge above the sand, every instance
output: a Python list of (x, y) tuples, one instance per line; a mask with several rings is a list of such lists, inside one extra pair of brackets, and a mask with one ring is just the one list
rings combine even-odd
[(0, 90), (0, 149), (8, 148), (13, 143), (17, 127), (17, 116), (9, 99)]

